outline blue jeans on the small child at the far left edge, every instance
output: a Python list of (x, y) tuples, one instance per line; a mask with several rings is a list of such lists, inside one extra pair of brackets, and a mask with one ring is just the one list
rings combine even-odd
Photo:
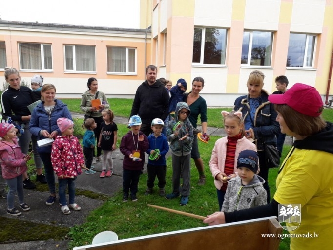
[(12, 179), (5, 179), (8, 185), (8, 194), (7, 194), (7, 205), (8, 209), (12, 210), (14, 208), (14, 199), (15, 194), (18, 194), (19, 204), (24, 203), (24, 194), (23, 194), (23, 176), (19, 175)]

